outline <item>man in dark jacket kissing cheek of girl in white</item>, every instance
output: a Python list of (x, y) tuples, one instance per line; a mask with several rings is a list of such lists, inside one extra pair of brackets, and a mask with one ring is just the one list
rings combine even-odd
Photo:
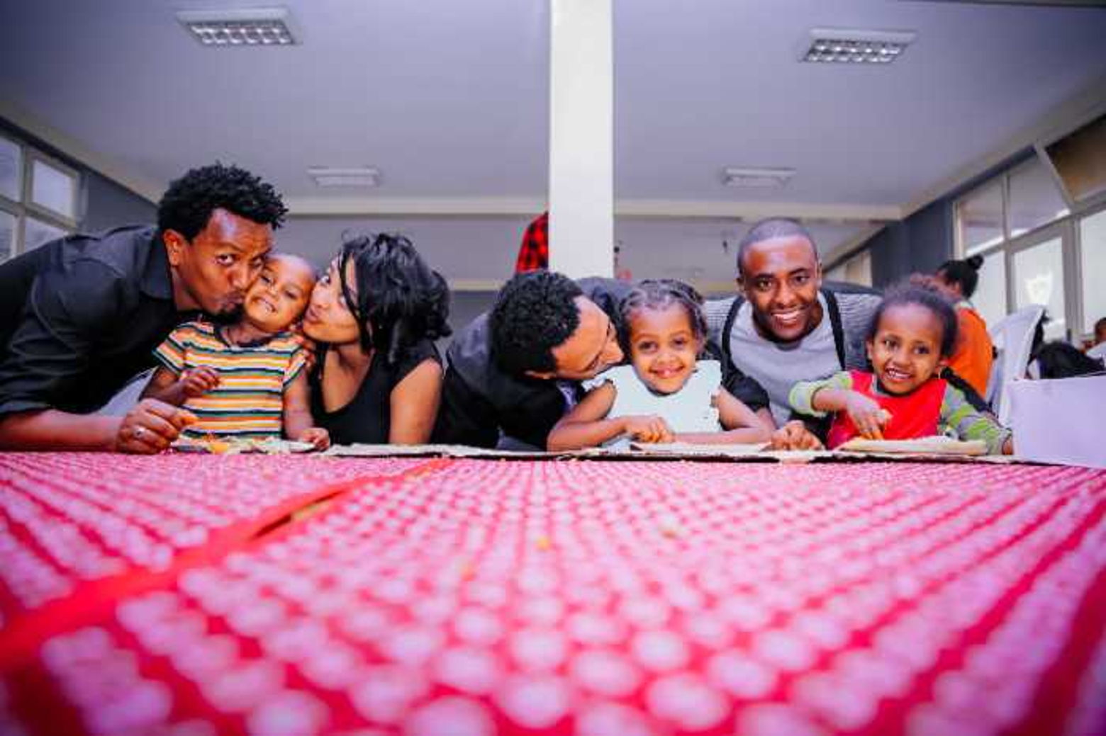
[(544, 450), (580, 381), (622, 361), (614, 315), (628, 292), (549, 271), (511, 278), (449, 346), (434, 441)]

